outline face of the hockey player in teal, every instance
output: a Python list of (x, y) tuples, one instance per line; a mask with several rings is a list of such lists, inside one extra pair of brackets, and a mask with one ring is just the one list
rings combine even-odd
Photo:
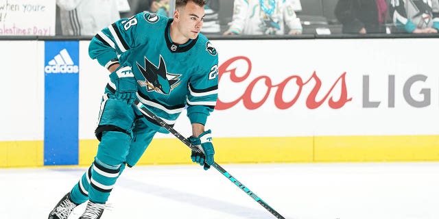
[(195, 39), (200, 34), (204, 20), (204, 8), (189, 1), (178, 9), (178, 30), (185, 38)]

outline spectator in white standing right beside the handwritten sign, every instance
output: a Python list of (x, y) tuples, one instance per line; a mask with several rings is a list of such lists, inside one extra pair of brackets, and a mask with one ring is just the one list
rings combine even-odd
[(117, 1), (56, 0), (60, 8), (62, 35), (95, 36), (104, 27), (119, 20)]

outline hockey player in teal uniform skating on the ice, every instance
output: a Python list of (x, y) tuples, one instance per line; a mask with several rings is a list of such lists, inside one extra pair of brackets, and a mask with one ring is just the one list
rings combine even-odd
[(218, 55), (200, 34), (204, 5), (204, 0), (176, 0), (174, 18), (142, 12), (116, 21), (91, 40), (91, 58), (110, 72), (95, 131), (100, 143), (91, 167), (49, 219), (66, 219), (86, 201), (80, 219), (100, 218), (125, 166), (138, 162), (157, 131), (167, 133), (141, 115), (134, 99), (169, 125), (187, 106), (189, 141), (204, 152), (191, 153), (191, 159), (204, 170), (213, 164), (211, 131), (204, 125), (217, 100)]

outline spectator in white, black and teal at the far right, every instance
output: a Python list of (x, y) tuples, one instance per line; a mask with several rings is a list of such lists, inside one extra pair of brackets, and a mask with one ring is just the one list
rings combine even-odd
[(407, 33), (435, 34), (439, 30), (439, 1), (390, 1), (390, 14), (396, 27)]

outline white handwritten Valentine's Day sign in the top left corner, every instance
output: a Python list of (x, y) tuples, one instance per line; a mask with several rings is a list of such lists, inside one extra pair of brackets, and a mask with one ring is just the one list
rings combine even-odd
[(54, 36), (55, 0), (0, 0), (0, 35)]

